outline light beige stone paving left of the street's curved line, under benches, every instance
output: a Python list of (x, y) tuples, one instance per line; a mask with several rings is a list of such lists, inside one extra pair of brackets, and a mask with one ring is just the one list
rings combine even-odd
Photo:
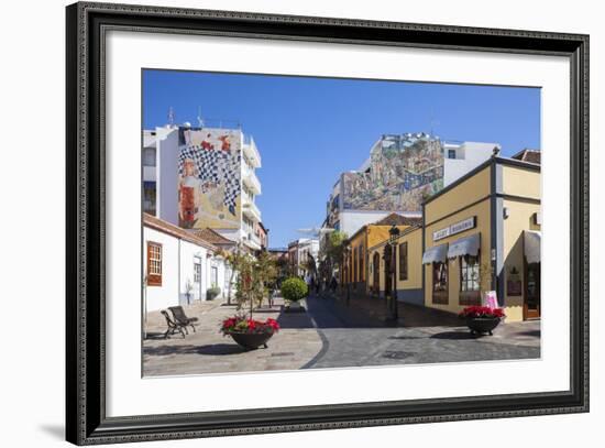
[[(198, 317), (196, 332), (182, 338), (158, 338), (166, 326), (161, 319), (148, 317), (151, 339), (143, 343), (143, 375), (186, 375), (201, 373), (233, 373), (266, 370), (300, 369), (322, 347), (321, 338), (312, 328), (306, 313), (284, 313), (283, 301), (254, 313), (255, 319), (274, 318), (282, 329), (268, 341), (268, 348), (246, 351), (229, 336), (219, 331), (221, 321), (235, 314), (234, 306), (217, 304), (208, 307), (186, 307), (188, 317)], [(160, 314), (160, 313), (157, 313)]]

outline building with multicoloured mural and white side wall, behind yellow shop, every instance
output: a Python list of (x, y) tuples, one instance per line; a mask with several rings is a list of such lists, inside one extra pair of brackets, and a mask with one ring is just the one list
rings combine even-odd
[(339, 176), (324, 226), (351, 236), (391, 212), (419, 217), (427, 198), (485, 162), (495, 147), (427, 133), (384, 134), (359, 170)]

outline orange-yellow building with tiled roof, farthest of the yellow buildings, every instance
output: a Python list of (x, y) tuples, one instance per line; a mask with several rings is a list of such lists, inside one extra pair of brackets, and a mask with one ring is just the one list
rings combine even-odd
[(388, 230), (395, 226), (400, 232), (410, 226), (419, 226), (420, 218), (404, 217), (391, 214), (371, 225), (363, 226), (345, 242), (344, 260), (341, 270), (341, 285), (351, 296), (365, 296), (371, 291), (367, 287), (370, 265), (367, 248), (375, 247), (388, 240)]

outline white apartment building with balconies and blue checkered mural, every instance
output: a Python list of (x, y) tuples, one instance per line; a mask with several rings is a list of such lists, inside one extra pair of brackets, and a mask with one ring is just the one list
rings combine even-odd
[(261, 154), (239, 127), (145, 130), (142, 162), (144, 211), (261, 250)]

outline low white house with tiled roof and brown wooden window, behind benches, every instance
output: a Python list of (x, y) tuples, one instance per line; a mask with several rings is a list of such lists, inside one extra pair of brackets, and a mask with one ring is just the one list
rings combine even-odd
[(229, 265), (216, 244), (143, 214), (144, 312), (206, 301), (209, 288), (229, 294)]

